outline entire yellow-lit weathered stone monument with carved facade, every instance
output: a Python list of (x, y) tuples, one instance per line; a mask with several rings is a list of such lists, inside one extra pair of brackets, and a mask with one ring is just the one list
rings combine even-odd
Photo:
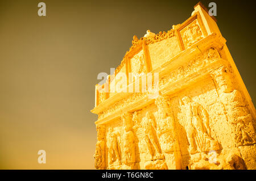
[[(134, 36), (96, 85), (96, 169), (256, 169), (254, 105), (216, 22), (194, 8), (168, 32)], [(119, 73), (144, 73), (146, 91), (143, 76), (113, 81)], [(139, 92), (115, 91), (135, 83)]]

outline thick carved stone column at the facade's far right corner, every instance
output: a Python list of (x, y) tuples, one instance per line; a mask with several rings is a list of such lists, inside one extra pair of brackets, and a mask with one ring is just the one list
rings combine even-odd
[(236, 144), (250, 145), (256, 143), (256, 134), (253, 126), (253, 117), (246, 107), (245, 99), (240, 91), (234, 89), (232, 68), (222, 67), (212, 73), (218, 85), (221, 102), (229, 123), (232, 125)]

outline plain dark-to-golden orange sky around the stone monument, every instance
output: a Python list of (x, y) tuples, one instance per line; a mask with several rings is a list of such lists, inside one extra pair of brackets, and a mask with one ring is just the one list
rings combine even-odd
[[(118, 66), (133, 35), (170, 30), (197, 2), (0, 0), (0, 169), (94, 169), (97, 74)], [(254, 6), (213, 2), (255, 104)]]

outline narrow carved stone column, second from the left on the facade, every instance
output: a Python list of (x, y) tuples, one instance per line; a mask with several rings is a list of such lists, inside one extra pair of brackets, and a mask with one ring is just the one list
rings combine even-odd
[(135, 163), (135, 137), (133, 133), (132, 115), (130, 112), (124, 113), (122, 116), (123, 127), (125, 129), (123, 135), (123, 163), (134, 169)]

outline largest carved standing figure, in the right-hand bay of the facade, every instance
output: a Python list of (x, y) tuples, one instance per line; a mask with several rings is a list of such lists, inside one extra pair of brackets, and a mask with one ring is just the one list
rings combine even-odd
[(218, 150), (218, 142), (211, 137), (209, 127), (209, 115), (197, 102), (184, 96), (182, 102), (185, 104), (188, 127), (186, 129), (189, 152)]

